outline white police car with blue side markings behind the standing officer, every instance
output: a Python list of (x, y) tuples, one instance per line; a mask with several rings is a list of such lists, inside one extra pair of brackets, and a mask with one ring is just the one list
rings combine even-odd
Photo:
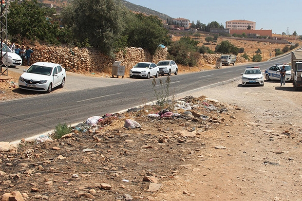
[(290, 81), (291, 78), (291, 66), (286, 64), (276, 64), (275, 66), (271, 66), (268, 69), (265, 69), (265, 79), (266, 80), (280, 80), (280, 71), (282, 66), (285, 66), (285, 81)]

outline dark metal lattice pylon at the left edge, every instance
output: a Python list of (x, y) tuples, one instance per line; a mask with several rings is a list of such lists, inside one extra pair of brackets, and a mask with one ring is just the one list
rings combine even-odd
[[(7, 52), (4, 48), (6, 46), (3, 46), (2, 44), (7, 42), (7, 1), (6, 0), (0, 0), (1, 1), (1, 9), (0, 9), (0, 74), (8, 75), (8, 68), (7, 68)], [(4, 51), (3, 51), (4, 49)], [(3, 54), (4, 55), (3, 55)], [(3, 63), (3, 57), (6, 57), (6, 62)]]

